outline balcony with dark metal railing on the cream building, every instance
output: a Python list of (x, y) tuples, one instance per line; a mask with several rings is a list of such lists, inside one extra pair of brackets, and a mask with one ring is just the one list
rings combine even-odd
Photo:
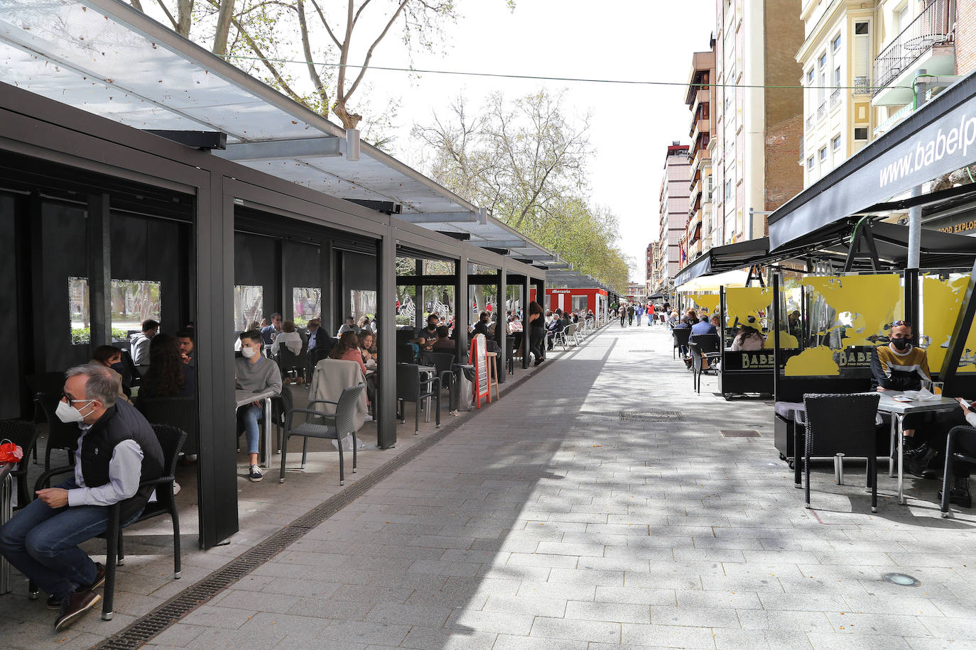
[(874, 58), (875, 106), (911, 102), (912, 77), (919, 68), (933, 75), (955, 74), (955, 19), (956, 0), (932, 0)]

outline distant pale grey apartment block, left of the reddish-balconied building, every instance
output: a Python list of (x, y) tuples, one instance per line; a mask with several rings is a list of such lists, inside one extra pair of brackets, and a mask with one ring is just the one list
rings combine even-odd
[(688, 222), (690, 180), (688, 145), (673, 142), (666, 152), (661, 178), (661, 211), (654, 259), (655, 292), (671, 291), (678, 270), (688, 262), (681, 259), (680, 245)]

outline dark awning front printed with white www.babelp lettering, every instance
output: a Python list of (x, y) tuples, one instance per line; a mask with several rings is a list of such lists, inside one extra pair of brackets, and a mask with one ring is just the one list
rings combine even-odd
[(976, 72), (769, 215), (772, 249), (976, 162)]

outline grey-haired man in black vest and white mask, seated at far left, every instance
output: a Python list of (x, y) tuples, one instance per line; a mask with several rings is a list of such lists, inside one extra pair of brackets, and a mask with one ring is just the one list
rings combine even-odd
[(77, 423), (74, 476), (38, 490), (37, 499), (0, 528), (0, 554), (50, 594), (63, 630), (95, 606), (104, 568), (78, 548), (108, 527), (108, 506), (131, 523), (152, 497), (140, 482), (163, 473), (163, 450), (152, 427), (127, 401), (116, 401), (118, 379), (90, 363), (66, 372), (57, 415)]

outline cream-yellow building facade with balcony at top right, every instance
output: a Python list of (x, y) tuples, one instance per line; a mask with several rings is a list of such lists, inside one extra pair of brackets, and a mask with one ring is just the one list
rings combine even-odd
[(805, 187), (911, 115), (918, 70), (948, 77), (924, 101), (976, 69), (976, 0), (804, 0), (801, 17)]

